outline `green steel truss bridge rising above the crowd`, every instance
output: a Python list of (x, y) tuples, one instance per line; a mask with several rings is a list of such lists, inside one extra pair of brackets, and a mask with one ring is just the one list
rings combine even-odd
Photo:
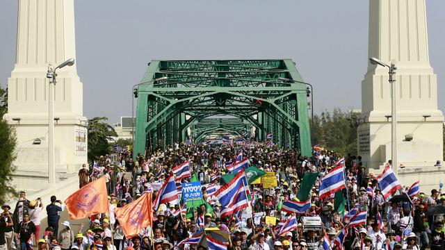
[(292, 60), (153, 60), (133, 91), (135, 155), (187, 138), (265, 141), (268, 133), (281, 147), (312, 153), (307, 84)]

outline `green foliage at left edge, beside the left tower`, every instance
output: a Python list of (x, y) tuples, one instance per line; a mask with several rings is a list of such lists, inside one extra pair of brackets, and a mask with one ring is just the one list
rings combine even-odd
[(15, 171), (13, 161), (16, 145), (14, 128), (0, 117), (0, 204), (16, 194), (14, 187), (10, 185)]

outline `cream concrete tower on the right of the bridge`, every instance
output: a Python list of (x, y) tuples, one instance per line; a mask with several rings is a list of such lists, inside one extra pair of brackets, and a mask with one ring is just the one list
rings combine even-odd
[[(369, 57), (396, 63), (397, 166), (403, 185), (420, 180), (421, 189), (445, 181), (442, 124), (437, 109), (437, 76), (430, 66), (425, 0), (369, 1)], [(362, 81), (358, 151), (370, 172), (391, 159), (391, 85), (388, 68), (368, 65)], [(412, 140), (405, 140), (412, 135)], [(442, 178), (442, 179), (441, 179)]]

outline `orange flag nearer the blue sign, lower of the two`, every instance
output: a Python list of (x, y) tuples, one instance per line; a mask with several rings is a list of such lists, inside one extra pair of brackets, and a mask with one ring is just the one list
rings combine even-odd
[(125, 233), (125, 238), (132, 238), (143, 228), (152, 225), (152, 192), (146, 192), (136, 201), (122, 208), (115, 208), (116, 219)]

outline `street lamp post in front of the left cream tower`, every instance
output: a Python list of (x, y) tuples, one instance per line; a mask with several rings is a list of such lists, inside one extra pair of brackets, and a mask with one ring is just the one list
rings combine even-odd
[(56, 183), (56, 169), (54, 168), (54, 85), (56, 85), (56, 70), (72, 65), (74, 65), (74, 58), (65, 60), (54, 69), (51, 68), (51, 65), (48, 66), (48, 180), (50, 184)]

